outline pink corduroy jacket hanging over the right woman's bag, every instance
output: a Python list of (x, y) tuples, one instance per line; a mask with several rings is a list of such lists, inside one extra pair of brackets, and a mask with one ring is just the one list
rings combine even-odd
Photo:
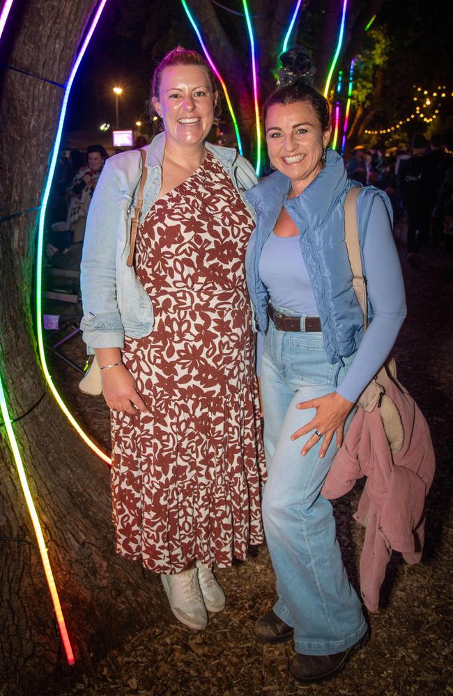
[(396, 449), (387, 439), (389, 429), (387, 421), (383, 427), (381, 409), (375, 407), (371, 413), (358, 409), (321, 491), (330, 500), (340, 498), (356, 480), (367, 476), (354, 517), (367, 528), (360, 556), (360, 591), (370, 611), (378, 609), (392, 550), (401, 552), (410, 564), (422, 557), (424, 502), (435, 468), (429, 427), (417, 404), (397, 380), (389, 378), (383, 386), (401, 418), (397, 414), (392, 422), (393, 432), (397, 425), (401, 434)]

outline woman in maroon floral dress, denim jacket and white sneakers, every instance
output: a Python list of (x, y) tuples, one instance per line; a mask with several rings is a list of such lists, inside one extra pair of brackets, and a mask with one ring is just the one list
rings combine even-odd
[[(112, 409), (118, 553), (160, 574), (191, 628), (224, 607), (212, 572), (263, 541), (263, 449), (245, 246), (256, 179), (236, 150), (206, 143), (217, 93), (178, 47), (155, 70), (164, 133), (146, 148), (134, 267), (125, 228), (137, 152), (107, 161), (84, 244), (84, 340)], [(114, 239), (113, 230), (117, 229)]]

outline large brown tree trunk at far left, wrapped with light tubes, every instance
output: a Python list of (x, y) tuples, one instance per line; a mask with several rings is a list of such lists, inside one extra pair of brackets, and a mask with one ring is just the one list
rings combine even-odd
[[(5, 62), (65, 83), (92, 13), (93, 0), (22, 2), (6, 26), (13, 40)], [(12, 69), (1, 76), (1, 218), (40, 203), (63, 89), (38, 77)], [(0, 223), (0, 369), (11, 418), (31, 409), (14, 429), (75, 650), (75, 675), (121, 644), (132, 626), (149, 621), (164, 600), (152, 590), (155, 576), (115, 555), (109, 470), (45, 386), (30, 300), (36, 219), (33, 212)], [(0, 683), (8, 694), (45, 694), (49, 677), (55, 682), (66, 672), (66, 658), (39, 553), (20, 541), (36, 539), (4, 427), (0, 452)]]

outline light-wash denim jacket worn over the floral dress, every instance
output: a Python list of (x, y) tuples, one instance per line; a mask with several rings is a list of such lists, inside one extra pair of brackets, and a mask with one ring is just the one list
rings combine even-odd
[[(160, 133), (145, 148), (148, 175), (142, 220), (162, 186), (164, 147), (165, 135)], [(206, 143), (206, 150), (220, 161), (241, 195), (257, 183), (252, 165), (233, 148)], [(93, 193), (81, 265), (84, 316), (80, 326), (89, 354), (93, 348), (123, 348), (125, 335), (142, 338), (153, 331), (151, 299), (135, 270), (126, 264), (140, 178), (140, 152), (121, 152), (107, 159)], [(254, 209), (244, 202), (254, 216)]]

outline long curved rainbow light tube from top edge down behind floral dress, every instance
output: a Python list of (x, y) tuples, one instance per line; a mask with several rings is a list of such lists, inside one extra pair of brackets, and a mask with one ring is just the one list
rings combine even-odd
[(68, 107), (68, 99), (69, 99), (69, 94), (70, 90), (72, 88), (72, 82), (74, 81), (75, 74), (77, 73), (77, 70), (79, 69), (79, 65), (82, 61), (82, 58), (84, 57), (84, 53), (86, 51), (86, 47), (89, 45), (89, 42), (91, 40), (91, 37), (93, 35), (93, 32), (95, 30), (96, 25), (98, 24), (100, 15), (102, 14), (102, 10), (105, 7), (105, 3), (107, 0), (101, 0), (98, 10), (96, 10), (95, 16), (93, 17), (93, 22), (91, 22), (91, 26), (89, 27), (88, 32), (86, 33), (86, 37), (84, 39), (84, 42), (82, 44), (82, 47), (79, 51), (79, 54), (77, 55), (77, 58), (75, 59), (74, 65), (72, 65), (72, 70), (70, 72), (68, 82), (66, 83), (66, 89), (65, 93), (63, 96), (63, 102), (61, 105), (61, 113), (60, 113), (60, 118), (59, 118), (59, 125), (56, 130), (56, 137), (55, 137), (55, 143), (54, 143), (54, 150), (52, 151), (52, 159), (50, 161), (50, 166), (49, 166), (49, 174), (47, 175), (47, 181), (45, 183), (45, 188), (44, 188), (44, 193), (43, 193), (43, 205), (41, 207), (41, 212), (40, 212), (40, 219), (39, 219), (39, 227), (38, 227), (38, 251), (37, 251), (37, 262), (36, 262), (36, 326), (37, 326), (37, 338), (38, 338), (38, 350), (39, 350), (39, 356), (40, 356), (40, 361), (41, 365), (43, 367), (43, 372), (45, 375), (45, 379), (47, 381), (47, 384), (49, 385), (49, 389), (52, 392), (52, 395), (54, 395), (54, 399), (56, 402), (59, 404), (61, 410), (65, 414), (66, 418), (68, 418), (70, 424), (72, 427), (75, 428), (79, 436), (82, 438), (82, 440), (86, 443), (86, 445), (95, 452), (95, 454), (98, 454), (98, 457), (100, 459), (103, 459), (106, 464), (110, 464), (111, 460), (110, 457), (107, 457), (107, 454), (105, 452), (102, 452), (100, 448), (98, 448), (93, 441), (89, 438), (88, 435), (82, 430), (82, 428), (79, 426), (77, 421), (75, 420), (74, 416), (72, 416), (72, 413), (70, 413), (70, 410), (68, 409), (68, 406), (63, 402), (63, 399), (59, 395), (59, 392), (57, 391), (56, 387), (54, 386), (54, 383), (52, 381), (52, 376), (49, 373), (49, 368), (47, 367), (47, 362), (45, 358), (45, 351), (44, 351), (44, 341), (43, 341), (43, 305), (42, 305), (42, 298), (41, 298), (41, 292), (42, 292), (42, 283), (43, 283), (43, 240), (44, 240), (44, 219), (45, 219), (45, 213), (47, 209), (47, 201), (49, 200), (49, 193), (50, 193), (50, 187), (52, 186), (52, 179), (54, 177), (54, 171), (56, 167), (56, 161), (59, 156), (59, 148), (60, 148), (60, 142), (61, 142), (61, 132), (63, 131), (63, 123), (65, 120), (66, 116), (66, 109)]

